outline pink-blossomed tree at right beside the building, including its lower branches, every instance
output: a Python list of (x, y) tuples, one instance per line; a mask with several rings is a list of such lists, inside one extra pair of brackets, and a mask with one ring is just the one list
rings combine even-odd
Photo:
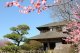
[(80, 22), (73, 21), (67, 25), (67, 32), (69, 34), (66, 39), (64, 39), (68, 43), (72, 43), (72, 45), (76, 46), (78, 53), (80, 53)]

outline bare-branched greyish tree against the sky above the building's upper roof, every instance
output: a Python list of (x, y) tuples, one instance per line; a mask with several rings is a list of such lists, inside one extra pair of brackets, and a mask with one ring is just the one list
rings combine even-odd
[(79, 19), (79, 0), (61, 0), (52, 7), (52, 17), (60, 17), (65, 20)]

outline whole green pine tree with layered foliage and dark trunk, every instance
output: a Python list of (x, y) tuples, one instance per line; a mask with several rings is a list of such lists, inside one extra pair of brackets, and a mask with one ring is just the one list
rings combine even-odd
[(10, 30), (12, 33), (6, 34), (4, 37), (9, 38), (15, 42), (17, 46), (20, 45), (21, 42), (25, 41), (24, 35), (28, 34), (29, 26), (27, 25), (18, 25), (17, 27), (11, 27)]

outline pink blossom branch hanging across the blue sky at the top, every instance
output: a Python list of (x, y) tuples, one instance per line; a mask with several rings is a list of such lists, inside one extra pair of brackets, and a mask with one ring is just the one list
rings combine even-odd
[(12, 7), (12, 6), (17, 6), (19, 8), (21, 8), (22, 10), (19, 10), (19, 12), (24, 13), (24, 14), (28, 14), (32, 11), (34, 11), (35, 9), (37, 9), (38, 14), (42, 11), (45, 10), (46, 7), (46, 0), (37, 0), (36, 2), (34, 2), (34, 0), (30, 0), (32, 5), (29, 6), (22, 6), (20, 5), (20, 2), (23, 2), (23, 0), (15, 0), (15, 1), (11, 1), (11, 2), (6, 2), (6, 7)]

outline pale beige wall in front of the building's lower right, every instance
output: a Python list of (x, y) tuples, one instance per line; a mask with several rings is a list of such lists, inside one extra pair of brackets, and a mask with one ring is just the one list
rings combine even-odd
[(70, 44), (60, 44), (55, 47), (53, 53), (74, 53), (74, 50)]

